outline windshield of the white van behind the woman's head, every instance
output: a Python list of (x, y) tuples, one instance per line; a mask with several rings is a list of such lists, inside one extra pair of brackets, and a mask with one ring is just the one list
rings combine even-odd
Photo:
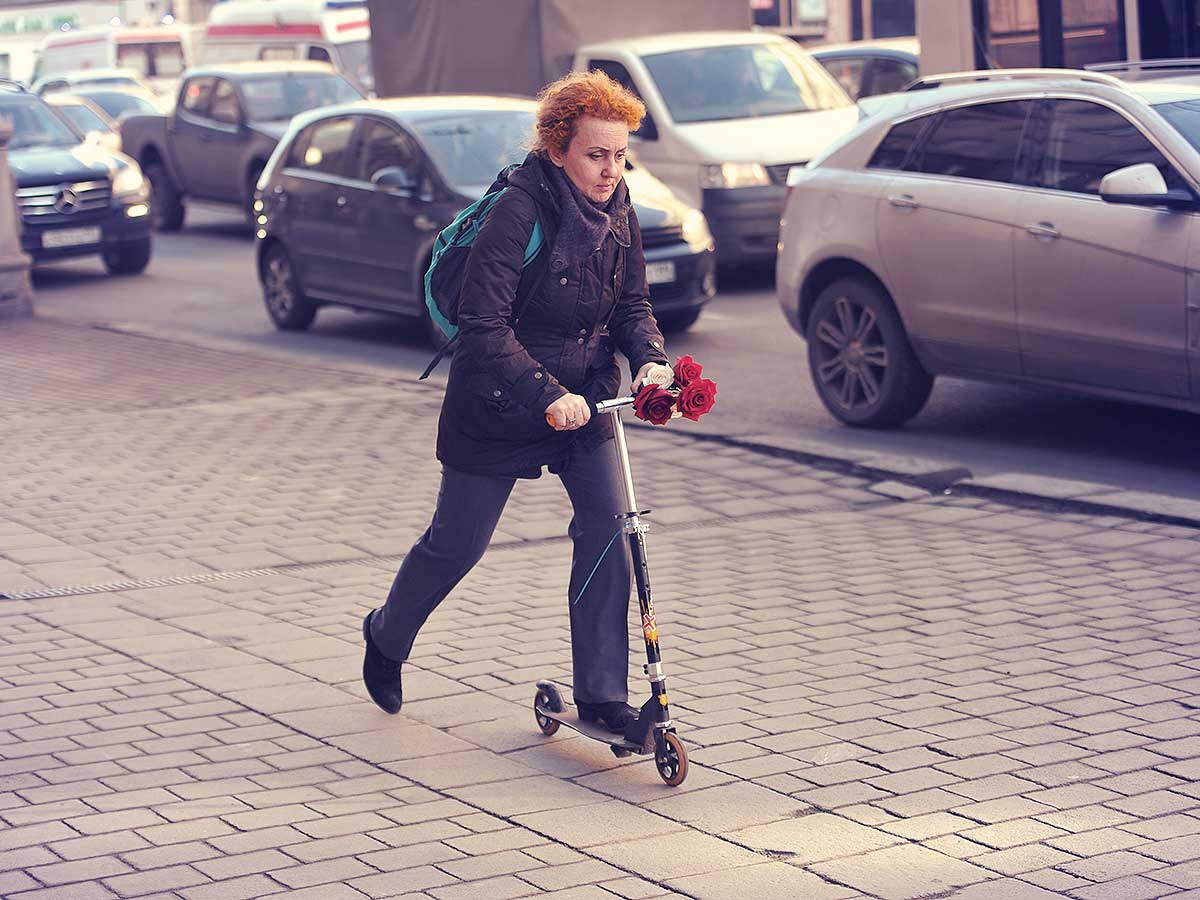
[(680, 125), (851, 103), (833, 77), (791, 41), (697, 47), (655, 53), (642, 61)]

